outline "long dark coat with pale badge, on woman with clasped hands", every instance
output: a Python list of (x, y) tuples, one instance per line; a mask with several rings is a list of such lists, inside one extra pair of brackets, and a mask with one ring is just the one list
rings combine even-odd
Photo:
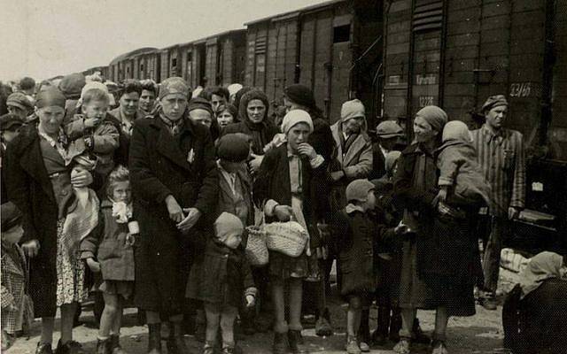
[[(190, 241), (210, 227), (207, 216), (214, 214), (218, 193), (211, 135), (206, 127), (183, 119), (177, 135), (170, 134), (159, 113), (136, 120), (129, 151), (134, 219), (141, 239), (136, 249), (135, 303), (170, 315), (181, 313)], [(169, 219), (165, 199), (170, 195), (182, 208), (201, 212), (189, 235), (182, 235)]]

